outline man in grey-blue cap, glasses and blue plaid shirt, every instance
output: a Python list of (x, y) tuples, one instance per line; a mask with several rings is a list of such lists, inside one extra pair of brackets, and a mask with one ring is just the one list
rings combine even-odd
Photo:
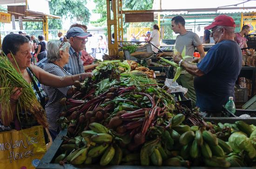
[[(70, 57), (63, 68), (72, 75), (84, 73), (85, 68), (81, 60), (81, 50), (85, 48), (87, 38), (91, 36), (80, 27), (72, 27), (67, 31), (67, 39), (71, 45), (68, 51)], [(48, 63), (48, 60), (44, 59), (37, 63), (37, 66), (43, 68), (46, 63)]]

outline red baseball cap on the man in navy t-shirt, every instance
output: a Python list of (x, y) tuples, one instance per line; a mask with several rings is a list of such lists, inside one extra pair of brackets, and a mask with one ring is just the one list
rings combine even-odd
[(218, 25), (236, 27), (236, 23), (233, 18), (227, 15), (219, 15), (213, 20), (211, 25), (204, 27), (204, 29), (212, 29), (213, 27)]

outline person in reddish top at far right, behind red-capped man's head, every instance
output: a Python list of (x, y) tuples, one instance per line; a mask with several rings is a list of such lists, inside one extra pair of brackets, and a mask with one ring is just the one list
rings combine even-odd
[(242, 30), (240, 32), (235, 33), (235, 41), (240, 46), (240, 49), (247, 48), (247, 39), (245, 38), (250, 31), (250, 27), (248, 25), (243, 25)]

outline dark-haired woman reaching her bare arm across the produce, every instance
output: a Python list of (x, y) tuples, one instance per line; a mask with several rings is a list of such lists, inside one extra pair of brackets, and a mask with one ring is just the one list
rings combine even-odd
[[(17, 71), (20, 71), (22, 77), (31, 84), (34, 94), (43, 107), (45, 106), (47, 95), (43, 91), (41, 84), (54, 88), (62, 88), (73, 85), (74, 81), (83, 81), (88, 77), (92, 77), (91, 73), (82, 73), (73, 76), (68, 75), (65, 77), (56, 76), (30, 64), (32, 56), (30, 54), (29, 40), (18, 34), (7, 35), (3, 39), (2, 50), (13, 63), (14, 67), (16, 67), (17, 63)], [(18, 100), (21, 94), (22, 88), (15, 87), (12, 94), (7, 96), (10, 97), (11, 114), (5, 110), (5, 107), (1, 107), (6, 105), (0, 104), (0, 129), (2, 131), (12, 129), (21, 130), (38, 125), (33, 113), (27, 112), (27, 115), (25, 115), (24, 112), (16, 112), (16, 107), (17, 104), (19, 104)], [(17, 114), (19, 114), (19, 116)]]

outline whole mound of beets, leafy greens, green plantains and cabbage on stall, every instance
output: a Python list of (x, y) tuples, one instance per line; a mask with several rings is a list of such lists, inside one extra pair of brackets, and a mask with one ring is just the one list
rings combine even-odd
[(59, 122), (67, 136), (54, 163), (253, 166), (252, 126), (205, 122), (198, 109), (179, 105), (154, 79), (146, 83), (145, 74), (128, 76), (129, 66), (119, 72), (120, 65), (103, 63), (94, 79), (78, 83), (79, 91), (62, 100), (66, 111)]

